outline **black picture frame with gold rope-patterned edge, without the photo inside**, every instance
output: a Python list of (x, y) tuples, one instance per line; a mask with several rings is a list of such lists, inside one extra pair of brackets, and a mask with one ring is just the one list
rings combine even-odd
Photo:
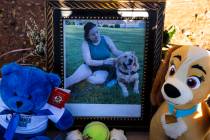
[[(110, 128), (126, 130), (148, 130), (151, 119), (150, 91), (152, 82), (161, 62), (162, 32), (165, 2), (154, 1), (58, 1), (46, 0), (47, 22), (47, 71), (60, 75), (64, 82), (63, 19), (122, 19), (122, 11), (146, 11), (148, 17), (124, 17), (146, 21), (144, 72), (141, 95), (141, 117), (75, 117), (75, 127), (83, 127), (90, 121), (102, 121)], [(62, 11), (71, 12), (70, 16)], [(63, 87), (63, 84), (61, 85)]]

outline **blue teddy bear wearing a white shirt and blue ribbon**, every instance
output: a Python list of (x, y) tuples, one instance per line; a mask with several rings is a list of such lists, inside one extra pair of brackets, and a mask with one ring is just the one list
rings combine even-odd
[(73, 124), (64, 107), (48, 103), (55, 87), (61, 83), (53, 73), (16, 63), (4, 65), (0, 83), (0, 139), (45, 139), (38, 137), (47, 128), (48, 119), (60, 130)]

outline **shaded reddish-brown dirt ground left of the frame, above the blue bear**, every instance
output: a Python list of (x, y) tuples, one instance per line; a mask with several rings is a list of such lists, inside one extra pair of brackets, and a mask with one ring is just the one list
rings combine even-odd
[[(0, 2), (0, 55), (16, 49), (34, 48), (26, 36), (25, 22), (33, 18), (38, 28), (44, 28), (44, 2), (44, 0), (2, 0)], [(30, 51), (21, 51), (21, 53), (7, 54), (0, 58), (0, 66), (19, 60), (29, 53)], [(28, 59), (30, 61), (37, 58), (28, 57)]]

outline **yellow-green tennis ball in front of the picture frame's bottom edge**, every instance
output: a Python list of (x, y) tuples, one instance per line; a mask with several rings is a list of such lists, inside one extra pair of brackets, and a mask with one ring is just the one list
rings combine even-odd
[(89, 123), (83, 131), (83, 137), (88, 140), (109, 140), (109, 135), (107, 126), (98, 121)]

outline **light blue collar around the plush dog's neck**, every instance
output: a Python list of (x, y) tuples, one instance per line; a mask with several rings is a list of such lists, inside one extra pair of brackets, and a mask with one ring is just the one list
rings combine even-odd
[(189, 115), (192, 115), (194, 112), (197, 111), (198, 105), (193, 106), (190, 109), (175, 109), (174, 104), (168, 103), (168, 111), (171, 114), (174, 114), (176, 118), (182, 118)]

